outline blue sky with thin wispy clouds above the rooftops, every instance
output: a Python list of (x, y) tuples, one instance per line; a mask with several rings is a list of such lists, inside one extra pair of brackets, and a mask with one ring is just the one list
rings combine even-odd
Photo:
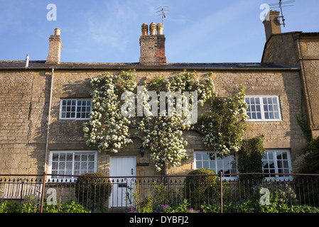
[[(167, 62), (260, 62), (266, 42), (261, 5), (276, 3), (0, 0), (0, 60), (25, 60), (27, 54), (30, 60), (46, 60), (49, 37), (60, 28), (61, 62), (139, 62), (141, 25), (162, 22), (158, 11), (166, 6)], [(56, 6), (55, 14), (49, 4)], [(318, 10), (318, 0), (296, 0), (283, 8), (281, 31), (319, 32)]]

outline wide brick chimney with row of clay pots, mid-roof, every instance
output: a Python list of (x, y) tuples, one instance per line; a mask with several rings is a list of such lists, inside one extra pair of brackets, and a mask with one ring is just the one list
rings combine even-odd
[[(155, 65), (158, 63), (166, 63), (165, 56), (165, 35), (163, 35), (163, 24), (151, 23), (148, 26), (146, 23), (142, 25), (142, 35), (139, 39), (141, 45), (141, 56), (139, 62), (145, 65)], [(157, 35), (156, 35), (157, 31)]]

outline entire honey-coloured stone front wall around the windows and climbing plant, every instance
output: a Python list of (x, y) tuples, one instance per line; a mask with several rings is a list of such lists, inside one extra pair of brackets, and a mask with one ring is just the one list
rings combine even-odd
[[(53, 77), (52, 104), (50, 115), (50, 150), (94, 150), (87, 148), (80, 120), (60, 120), (60, 99), (90, 98), (90, 77), (102, 71), (55, 70)], [(117, 73), (119, 71), (111, 71)], [(136, 71), (139, 81), (148, 77), (171, 77), (182, 71)], [(198, 71), (199, 77), (210, 72)], [(0, 120), (0, 174), (37, 174), (43, 172), (45, 142), (48, 123), (51, 72), (48, 71), (1, 71), (0, 108), (4, 114)], [(301, 111), (301, 79), (298, 71), (216, 71), (213, 79), (217, 92), (229, 96), (245, 87), (247, 95), (279, 95), (283, 121), (249, 122), (247, 138), (263, 134), (265, 148), (289, 148), (291, 157), (301, 153), (306, 139), (296, 121)], [(207, 150), (198, 133), (185, 133), (188, 140), (189, 159), (181, 167), (169, 170), (169, 174), (186, 174), (193, 170), (194, 150)], [(98, 171), (109, 173), (110, 155), (136, 155), (137, 174), (156, 174), (148, 150), (140, 155), (141, 140), (134, 140), (117, 154), (98, 153)], [(48, 157), (48, 155), (47, 155)], [(48, 160), (47, 160), (48, 161)], [(143, 164), (141, 164), (143, 163)], [(145, 164), (145, 163), (148, 163)]]

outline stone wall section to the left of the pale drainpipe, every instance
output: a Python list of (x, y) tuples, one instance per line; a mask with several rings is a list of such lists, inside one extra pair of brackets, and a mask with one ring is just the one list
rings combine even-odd
[(0, 73), (0, 174), (43, 172), (50, 77)]

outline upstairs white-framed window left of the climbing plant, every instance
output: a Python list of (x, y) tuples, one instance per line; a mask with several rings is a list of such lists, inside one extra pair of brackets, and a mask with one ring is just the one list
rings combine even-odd
[(62, 99), (60, 101), (60, 119), (90, 118), (91, 100), (89, 99)]

